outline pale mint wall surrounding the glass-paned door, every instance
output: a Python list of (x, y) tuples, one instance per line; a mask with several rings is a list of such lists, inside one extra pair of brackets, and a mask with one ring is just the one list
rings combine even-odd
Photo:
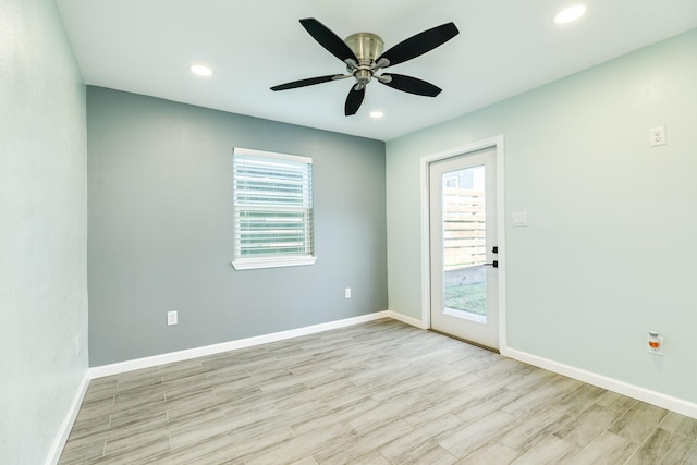
[(503, 134), (508, 345), (697, 402), (696, 57), (692, 30), (388, 143), (390, 309), (421, 315), (420, 157)]

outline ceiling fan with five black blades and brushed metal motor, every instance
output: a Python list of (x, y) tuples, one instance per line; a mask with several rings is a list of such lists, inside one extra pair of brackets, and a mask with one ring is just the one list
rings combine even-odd
[(453, 23), (447, 23), (412, 36), (383, 52), (384, 42), (375, 34), (357, 33), (346, 37), (346, 40), (342, 40), (314, 17), (301, 20), (301, 24), (320, 46), (346, 64), (346, 74), (330, 74), (293, 81), (273, 86), (271, 90), (288, 90), (354, 77), (356, 83), (351, 87), (344, 105), (346, 117), (358, 111), (366, 95), (366, 85), (372, 78), (398, 90), (436, 97), (442, 89), (431, 83), (402, 74), (376, 73), (384, 68), (403, 63), (431, 51), (460, 34)]

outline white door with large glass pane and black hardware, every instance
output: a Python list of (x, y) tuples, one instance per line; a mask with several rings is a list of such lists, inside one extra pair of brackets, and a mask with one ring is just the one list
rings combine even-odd
[(429, 164), (431, 328), (499, 348), (496, 148)]

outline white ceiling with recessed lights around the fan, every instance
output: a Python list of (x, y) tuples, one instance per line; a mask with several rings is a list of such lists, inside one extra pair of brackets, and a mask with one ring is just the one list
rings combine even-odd
[[(57, 0), (85, 82), (389, 140), (486, 107), (697, 27), (696, 0), (577, 0), (577, 23), (553, 14), (574, 0)], [(343, 115), (350, 81), (269, 87), (343, 73), (298, 23), (316, 17), (345, 38), (370, 32), (386, 49), (454, 22), (460, 35), (390, 72), (431, 82), (436, 98), (368, 85)], [(205, 63), (215, 74), (188, 71)], [(382, 120), (371, 120), (382, 110)]]

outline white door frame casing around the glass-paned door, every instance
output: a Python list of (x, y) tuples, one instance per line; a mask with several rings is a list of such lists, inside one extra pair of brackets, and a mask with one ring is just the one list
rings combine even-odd
[(467, 156), (475, 151), (496, 149), (497, 160), (497, 235), (501, 247), (497, 254), (499, 260), (499, 352), (508, 347), (505, 311), (505, 199), (503, 175), (503, 135), (498, 135), (473, 144), (453, 147), (443, 151), (426, 155), (420, 159), (421, 187), (421, 326), (431, 328), (431, 259), (430, 259), (430, 181), (429, 168), (432, 162)]

